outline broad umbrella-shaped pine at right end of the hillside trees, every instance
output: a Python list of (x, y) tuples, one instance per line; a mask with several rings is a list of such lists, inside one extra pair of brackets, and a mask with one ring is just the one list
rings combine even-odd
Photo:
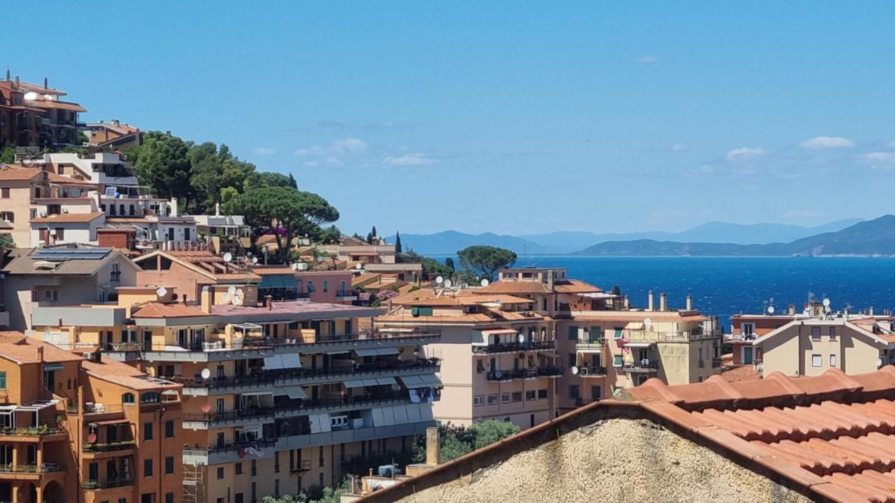
[(227, 201), (226, 211), (244, 215), (246, 223), (260, 235), (273, 228), (277, 236), (277, 259), (285, 262), (297, 235), (319, 235), (320, 225), (338, 219), (338, 210), (313, 192), (292, 187), (250, 189)]

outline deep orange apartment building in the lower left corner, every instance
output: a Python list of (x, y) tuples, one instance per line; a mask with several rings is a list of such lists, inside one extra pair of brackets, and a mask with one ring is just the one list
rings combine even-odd
[(180, 503), (182, 386), (0, 333), (0, 499)]

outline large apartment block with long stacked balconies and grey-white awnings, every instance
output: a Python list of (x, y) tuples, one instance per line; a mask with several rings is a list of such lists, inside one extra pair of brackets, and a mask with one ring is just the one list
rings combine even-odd
[(364, 331), (357, 327), (381, 311), (265, 302), (257, 287), (230, 286), (203, 286), (198, 304), (174, 302), (172, 286), (122, 288), (115, 305), (33, 316), (36, 337), (99, 346), (183, 384), (188, 503), (330, 485), (343, 465), (405, 452), (434, 424), (439, 362), (420, 347), (438, 332)]

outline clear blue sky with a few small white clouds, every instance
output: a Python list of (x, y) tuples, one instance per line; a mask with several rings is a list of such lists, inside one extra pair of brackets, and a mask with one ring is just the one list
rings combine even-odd
[(0, 66), (48, 76), (87, 120), (223, 142), (292, 173), (346, 232), (674, 231), (891, 212), (895, 3), (40, 10), (51, 15), (26, 21)]

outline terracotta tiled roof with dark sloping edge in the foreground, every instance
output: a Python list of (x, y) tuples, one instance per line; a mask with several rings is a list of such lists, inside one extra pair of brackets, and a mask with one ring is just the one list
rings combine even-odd
[[(569, 433), (619, 419), (656, 423), (808, 499), (895, 503), (895, 367), (891, 366), (853, 376), (835, 369), (817, 377), (790, 378), (774, 372), (765, 379), (740, 382), (713, 376), (703, 383), (678, 386), (650, 379), (626, 389), (618, 399), (586, 405), (362, 500), (395, 501), (423, 490), (438, 491), (458, 480), (474, 480), (473, 473), (484, 473), (483, 469), (532, 449), (554, 446)], [(604, 461), (594, 459), (592, 464)], [(719, 476), (724, 475), (704, 474)], [(677, 489), (667, 490), (669, 499), (674, 499)]]

